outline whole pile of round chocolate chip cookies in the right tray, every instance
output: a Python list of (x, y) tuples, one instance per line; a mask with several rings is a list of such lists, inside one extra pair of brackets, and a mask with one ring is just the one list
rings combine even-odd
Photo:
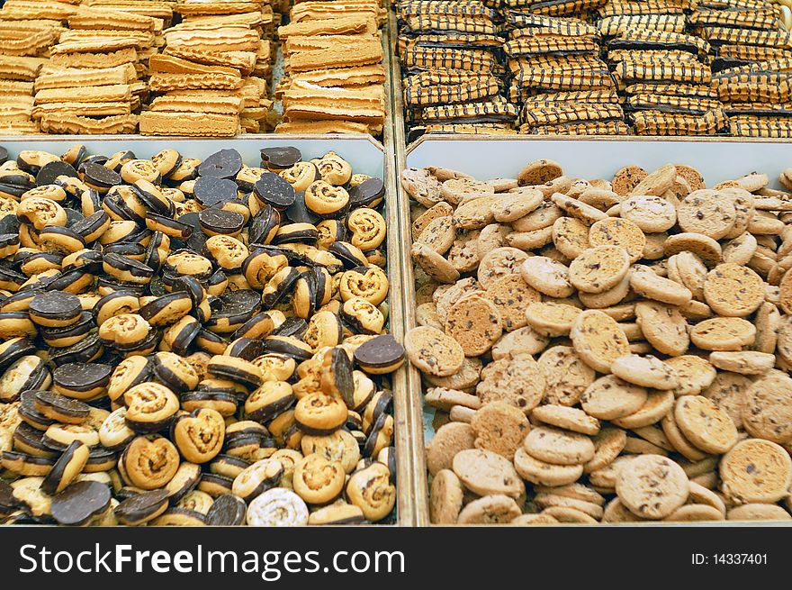
[(792, 520), (790, 193), (546, 159), (401, 184), (432, 522)]

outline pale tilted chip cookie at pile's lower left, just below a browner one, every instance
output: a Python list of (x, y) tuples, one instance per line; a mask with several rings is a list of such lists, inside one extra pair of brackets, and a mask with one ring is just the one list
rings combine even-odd
[(454, 473), (473, 494), (519, 498), (525, 485), (511, 462), (489, 450), (465, 449), (454, 458)]

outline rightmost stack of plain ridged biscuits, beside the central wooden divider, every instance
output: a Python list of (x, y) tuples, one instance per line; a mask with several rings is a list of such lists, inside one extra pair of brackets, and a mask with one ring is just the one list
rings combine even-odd
[(278, 28), (284, 77), (279, 133), (371, 133), (385, 123), (385, 11), (376, 0), (294, 5)]

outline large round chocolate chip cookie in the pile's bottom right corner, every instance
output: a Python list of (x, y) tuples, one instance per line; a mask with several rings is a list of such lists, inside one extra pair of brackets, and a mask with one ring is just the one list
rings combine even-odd
[(721, 459), (719, 473), (721, 491), (734, 504), (772, 504), (788, 494), (792, 459), (770, 440), (743, 440)]

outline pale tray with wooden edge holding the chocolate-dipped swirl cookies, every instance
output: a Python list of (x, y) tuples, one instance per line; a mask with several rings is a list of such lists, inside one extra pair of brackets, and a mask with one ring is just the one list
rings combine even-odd
[[(387, 145), (392, 145), (390, 129), (386, 127)], [(9, 157), (15, 158), (21, 150), (45, 150), (55, 154), (65, 152), (74, 143), (85, 145), (89, 154), (112, 154), (120, 150), (133, 150), (140, 158), (149, 158), (157, 151), (166, 148), (179, 150), (185, 155), (195, 158), (205, 158), (221, 149), (238, 150), (246, 163), (256, 163), (260, 159), (259, 150), (266, 147), (293, 146), (302, 151), (303, 159), (320, 158), (328, 151), (336, 151), (346, 159), (355, 172), (369, 176), (382, 177), (386, 186), (385, 221), (391, 231), (388, 231), (386, 244), (388, 250), (388, 279), (391, 285), (391, 295), (388, 302), (389, 329), (396, 340), (403, 340), (404, 335), (404, 308), (401, 271), (401, 233), (399, 216), (400, 209), (397, 201), (395, 168), (392, 166), (392, 149), (385, 149), (379, 141), (370, 135), (329, 135), (322, 139), (308, 138), (305, 136), (268, 135), (264, 137), (244, 137), (236, 139), (177, 139), (177, 138), (144, 138), (140, 136), (124, 137), (85, 137), (68, 136), (53, 138), (51, 136), (37, 136), (20, 140), (18, 137), (0, 138), (0, 146), (9, 152)], [(412, 465), (411, 440), (410, 440), (410, 404), (407, 387), (407, 369), (400, 368), (392, 373), (393, 393), (393, 420), (394, 441), (397, 449), (397, 523), (400, 526), (410, 526), (416, 523), (413, 483), (414, 468)]]

